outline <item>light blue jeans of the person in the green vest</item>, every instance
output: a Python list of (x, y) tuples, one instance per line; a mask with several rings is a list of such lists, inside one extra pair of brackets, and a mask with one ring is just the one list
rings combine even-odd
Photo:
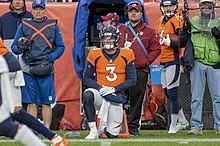
[(220, 69), (214, 69), (195, 61), (195, 66), (190, 71), (190, 80), (192, 92), (191, 128), (203, 129), (202, 102), (207, 81), (213, 104), (214, 129), (220, 129)]

